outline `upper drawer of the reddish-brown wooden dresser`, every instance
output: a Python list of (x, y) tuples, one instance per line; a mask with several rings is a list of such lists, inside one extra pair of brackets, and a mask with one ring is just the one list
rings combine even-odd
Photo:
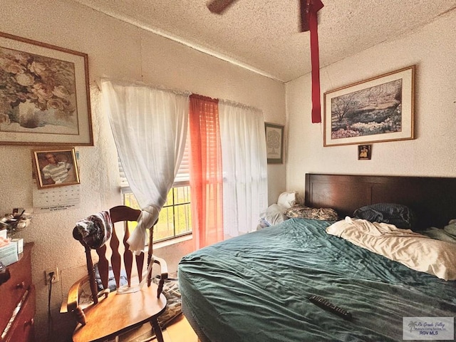
[(0, 285), (0, 333), (6, 328), (14, 309), (31, 286), (31, 247), (26, 244), (19, 261), (8, 266), (11, 278)]

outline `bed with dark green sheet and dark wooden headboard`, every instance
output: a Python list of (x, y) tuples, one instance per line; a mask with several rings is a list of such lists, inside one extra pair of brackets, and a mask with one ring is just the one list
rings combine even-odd
[[(341, 221), (376, 203), (410, 207), (418, 233), (456, 218), (456, 178), (307, 174), (305, 182), (305, 205), (332, 208)], [(401, 341), (423, 317), (451, 318), (453, 331), (456, 281), (328, 234), (334, 223), (288, 219), (182, 258), (182, 310), (199, 340)], [(311, 295), (353, 318), (319, 308)]]

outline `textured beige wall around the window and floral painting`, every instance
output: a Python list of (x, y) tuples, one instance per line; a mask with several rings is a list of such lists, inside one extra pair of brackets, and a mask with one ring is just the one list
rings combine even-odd
[[(118, 164), (108, 119), (103, 115), (100, 77), (144, 81), (155, 86), (233, 100), (264, 111), (266, 121), (285, 123), (285, 86), (227, 62), (199, 53), (153, 33), (125, 24), (70, 0), (0, 0), (3, 20), (0, 31), (88, 53), (90, 103), (94, 147), (76, 147), (81, 170), (81, 205), (65, 212), (33, 214), (30, 227), (21, 233), (33, 241), (33, 281), (37, 292), (38, 341), (48, 341), (48, 288), (44, 270), (61, 269), (62, 281), (53, 286), (53, 324), (63, 341), (71, 327), (66, 315), (58, 314), (61, 301), (73, 281), (85, 273), (82, 247), (71, 237), (74, 222), (121, 203)], [(0, 145), (0, 211), (32, 207), (31, 150), (36, 146)], [(285, 189), (285, 165), (271, 165), (269, 202)], [(41, 190), (45, 191), (45, 190)], [(171, 249), (156, 249), (175, 269), (189, 251), (181, 243)]]

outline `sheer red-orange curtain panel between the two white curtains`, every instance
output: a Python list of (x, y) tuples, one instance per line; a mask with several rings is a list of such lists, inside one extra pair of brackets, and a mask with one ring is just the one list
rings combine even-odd
[(223, 239), (218, 100), (190, 95), (190, 189), (195, 249)]

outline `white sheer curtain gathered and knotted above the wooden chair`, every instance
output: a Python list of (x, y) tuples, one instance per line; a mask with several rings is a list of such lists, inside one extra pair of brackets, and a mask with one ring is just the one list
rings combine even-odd
[(128, 184), (142, 208), (128, 242), (139, 253), (158, 219), (185, 149), (190, 93), (102, 80), (105, 110)]

